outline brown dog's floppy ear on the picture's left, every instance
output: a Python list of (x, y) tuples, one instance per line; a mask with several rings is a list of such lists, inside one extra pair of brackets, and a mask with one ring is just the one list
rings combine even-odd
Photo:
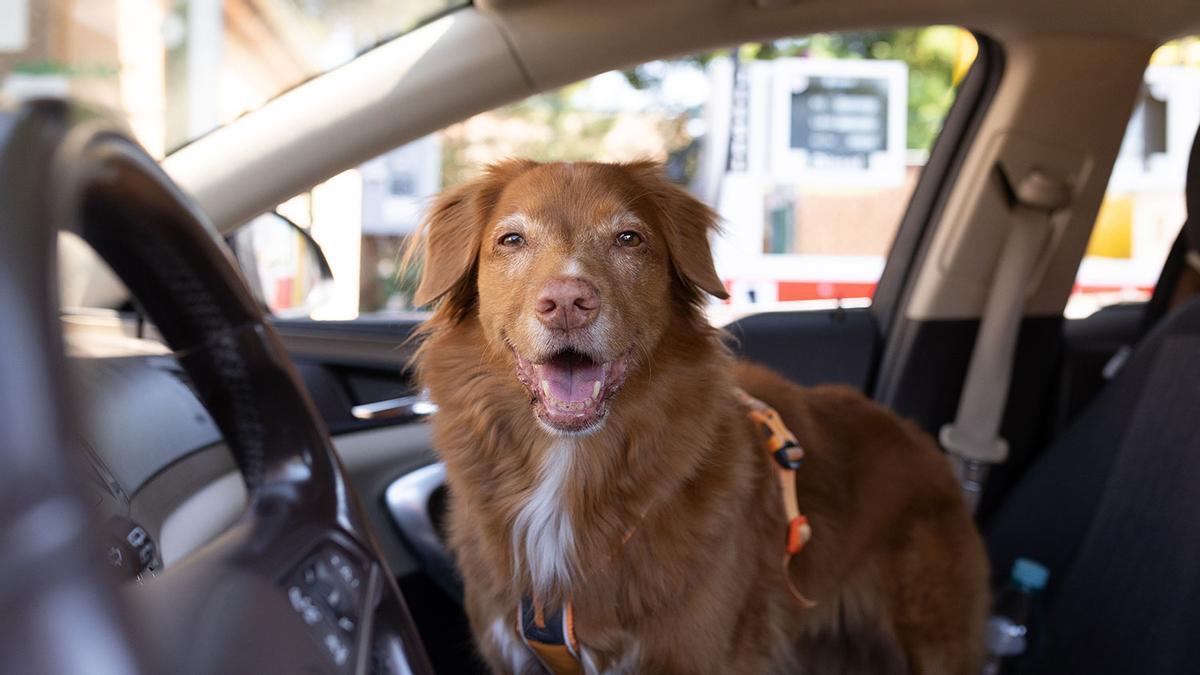
[(421, 225), (421, 235), (404, 256), (404, 264), (409, 264), (418, 247), (422, 251), (421, 281), (413, 294), (415, 306), (451, 291), (472, 291), (484, 226), (509, 181), (534, 166), (536, 162), (528, 160), (506, 160), (438, 196)]

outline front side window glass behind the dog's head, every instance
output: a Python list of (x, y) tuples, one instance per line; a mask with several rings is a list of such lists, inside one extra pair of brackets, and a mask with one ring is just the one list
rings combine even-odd
[(607, 72), (475, 115), (281, 207), (341, 288), (312, 316), (412, 310), (415, 274), (398, 259), (431, 197), (509, 156), (662, 161), (722, 217), (714, 252), (732, 298), (714, 315), (866, 304), (974, 55), (952, 26), (820, 34)]

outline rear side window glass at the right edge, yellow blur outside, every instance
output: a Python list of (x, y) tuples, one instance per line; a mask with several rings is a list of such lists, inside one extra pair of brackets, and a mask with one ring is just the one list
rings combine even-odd
[(1200, 37), (1158, 48), (1067, 303), (1068, 318), (1144, 301), (1186, 216), (1188, 153), (1200, 126)]

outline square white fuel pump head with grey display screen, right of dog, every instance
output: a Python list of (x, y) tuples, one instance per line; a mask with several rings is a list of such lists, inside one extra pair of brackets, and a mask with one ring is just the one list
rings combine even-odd
[(772, 173), (805, 185), (904, 181), (904, 61), (779, 59), (772, 84)]

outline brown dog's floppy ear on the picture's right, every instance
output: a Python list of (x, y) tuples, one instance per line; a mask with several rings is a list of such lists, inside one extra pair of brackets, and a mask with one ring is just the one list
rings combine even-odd
[[(662, 165), (658, 162), (634, 162), (624, 165), (624, 168), (643, 189), (643, 198), (649, 201), (665, 229), (667, 250), (679, 279), (692, 288), (728, 299), (725, 283), (716, 275), (713, 250), (708, 244), (708, 235), (719, 229), (716, 213), (667, 180)], [(695, 295), (697, 301), (702, 297), (700, 293)]]

